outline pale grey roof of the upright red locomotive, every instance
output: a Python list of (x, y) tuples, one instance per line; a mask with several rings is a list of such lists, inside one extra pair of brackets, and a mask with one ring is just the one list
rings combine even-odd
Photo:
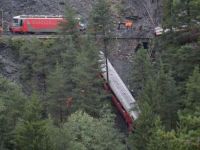
[(63, 16), (62, 15), (19, 15), (13, 17), (13, 19), (24, 19), (24, 18), (63, 18)]

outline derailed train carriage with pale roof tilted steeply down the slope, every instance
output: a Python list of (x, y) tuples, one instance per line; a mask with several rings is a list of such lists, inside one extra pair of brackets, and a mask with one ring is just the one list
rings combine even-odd
[[(133, 122), (139, 116), (139, 107), (130, 91), (121, 80), (120, 76), (112, 66), (110, 61), (104, 57), (104, 53), (100, 51), (101, 75), (105, 80), (104, 88), (112, 95), (112, 102), (124, 118), (129, 131), (133, 131)], [(107, 67), (106, 67), (107, 64)]]

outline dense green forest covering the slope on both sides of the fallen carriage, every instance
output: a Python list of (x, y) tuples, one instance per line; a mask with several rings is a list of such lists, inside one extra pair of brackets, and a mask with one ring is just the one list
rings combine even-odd
[(169, 31), (132, 56), (140, 115), (129, 134), (115, 122), (91, 34), (109, 36), (106, 0), (96, 3), (84, 36), (66, 7), (58, 39), (0, 41), (20, 63), (19, 83), (0, 76), (0, 150), (200, 149), (199, 10), (199, 0), (163, 0)]

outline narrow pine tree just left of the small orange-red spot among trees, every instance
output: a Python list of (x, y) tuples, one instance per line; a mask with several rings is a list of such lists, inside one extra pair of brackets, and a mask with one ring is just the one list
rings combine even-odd
[(69, 93), (67, 92), (66, 78), (64, 68), (57, 63), (55, 70), (51, 72), (47, 80), (47, 109), (53, 118), (55, 120), (59, 118), (60, 122), (66, 118), (68, 109)]

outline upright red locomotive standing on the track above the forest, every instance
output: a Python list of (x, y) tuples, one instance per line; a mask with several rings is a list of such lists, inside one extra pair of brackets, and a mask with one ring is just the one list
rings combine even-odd
[[(55, 33), (64, 21), (63, 16), (21, 15), (13, 17), (9, 30), (12, 33)], [(82, 30), (84, 25), (79, 23), (78, 27)]]

